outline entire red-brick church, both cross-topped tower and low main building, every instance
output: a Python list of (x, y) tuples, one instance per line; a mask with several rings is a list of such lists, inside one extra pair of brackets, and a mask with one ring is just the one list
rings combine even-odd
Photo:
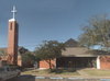
[[(8, 48), (3, 48), (6, 56), (0, 54), (0, 60), (8, 61), (9, 65), (22, 66), (22, 58), (18, 56), (19, 49), (19, 24), (15, 19), (16, 9), (13, 7), (11, 11), (12, 19), (9, 20), (8, 30)], [(78, 42), (69, 39), (66, 43), (66, 50), (62, 53), (62, 57), (51, 60), (52, 68), (97, 68), (110, 69), (110, 55), (103, 50), (88, 49), (78, 46)], [(40, 69), (48, 69), (48, 60), (38, 62)]]

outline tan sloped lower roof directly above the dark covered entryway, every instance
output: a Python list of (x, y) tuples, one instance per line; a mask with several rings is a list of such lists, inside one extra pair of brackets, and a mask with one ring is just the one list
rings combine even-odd
[(109, 55), (103, 50), (90, 50), (85, 47), (67, 47), (66, 50), (63, 50), (62, 56), (64, 57), (97, 57)]

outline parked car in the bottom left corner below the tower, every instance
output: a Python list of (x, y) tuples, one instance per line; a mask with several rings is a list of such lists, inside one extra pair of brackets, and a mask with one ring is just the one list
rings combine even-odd
[(0, 68), (0, 81), (6, 81), (11, 78), (20, 76), (20, 70), (12, 67), (2, 67)]

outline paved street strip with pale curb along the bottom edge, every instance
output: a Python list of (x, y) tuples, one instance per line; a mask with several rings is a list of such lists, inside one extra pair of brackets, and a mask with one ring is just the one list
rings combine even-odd
[(20, 76), (7, 81), (110, 81), (110, 79), (62, 78), (62, 77), (35, 77), (31, 74)]

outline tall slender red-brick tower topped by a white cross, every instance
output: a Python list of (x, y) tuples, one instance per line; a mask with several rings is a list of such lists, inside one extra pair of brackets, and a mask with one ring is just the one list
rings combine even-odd
[(15, 7), (11, 11), (13, 18), (9, 20), (9, 33), (8, 33), (8, 62), (10, 65), (18, 65), (18, 31), (19, 25), (15, 20)]

